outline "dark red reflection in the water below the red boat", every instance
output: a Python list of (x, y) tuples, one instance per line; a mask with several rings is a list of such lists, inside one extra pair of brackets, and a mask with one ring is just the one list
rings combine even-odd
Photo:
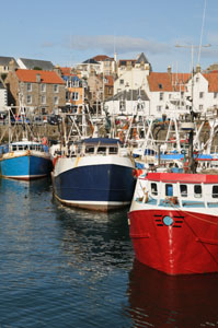
[(171, 277), (134, 261), (129, 274), (134, 327), (218, 327), (218, 274)]

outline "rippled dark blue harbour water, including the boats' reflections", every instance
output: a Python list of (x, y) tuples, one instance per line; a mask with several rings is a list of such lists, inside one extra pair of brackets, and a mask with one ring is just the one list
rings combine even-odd
[(134, 260), (127, 210), (72, 210), (48, 179), (0, 179), (0, 328), (218, 327), (218, 276)]

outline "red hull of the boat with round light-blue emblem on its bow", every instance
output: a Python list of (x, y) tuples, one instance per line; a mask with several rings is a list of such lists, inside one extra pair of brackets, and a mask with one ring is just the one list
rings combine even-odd
[[(173, 223), (165, 225), (164, 216)], [(218, 216), (144, 209), (131, 211), (129, 219), (140, 262), (168, 274), (218, 272)]]

